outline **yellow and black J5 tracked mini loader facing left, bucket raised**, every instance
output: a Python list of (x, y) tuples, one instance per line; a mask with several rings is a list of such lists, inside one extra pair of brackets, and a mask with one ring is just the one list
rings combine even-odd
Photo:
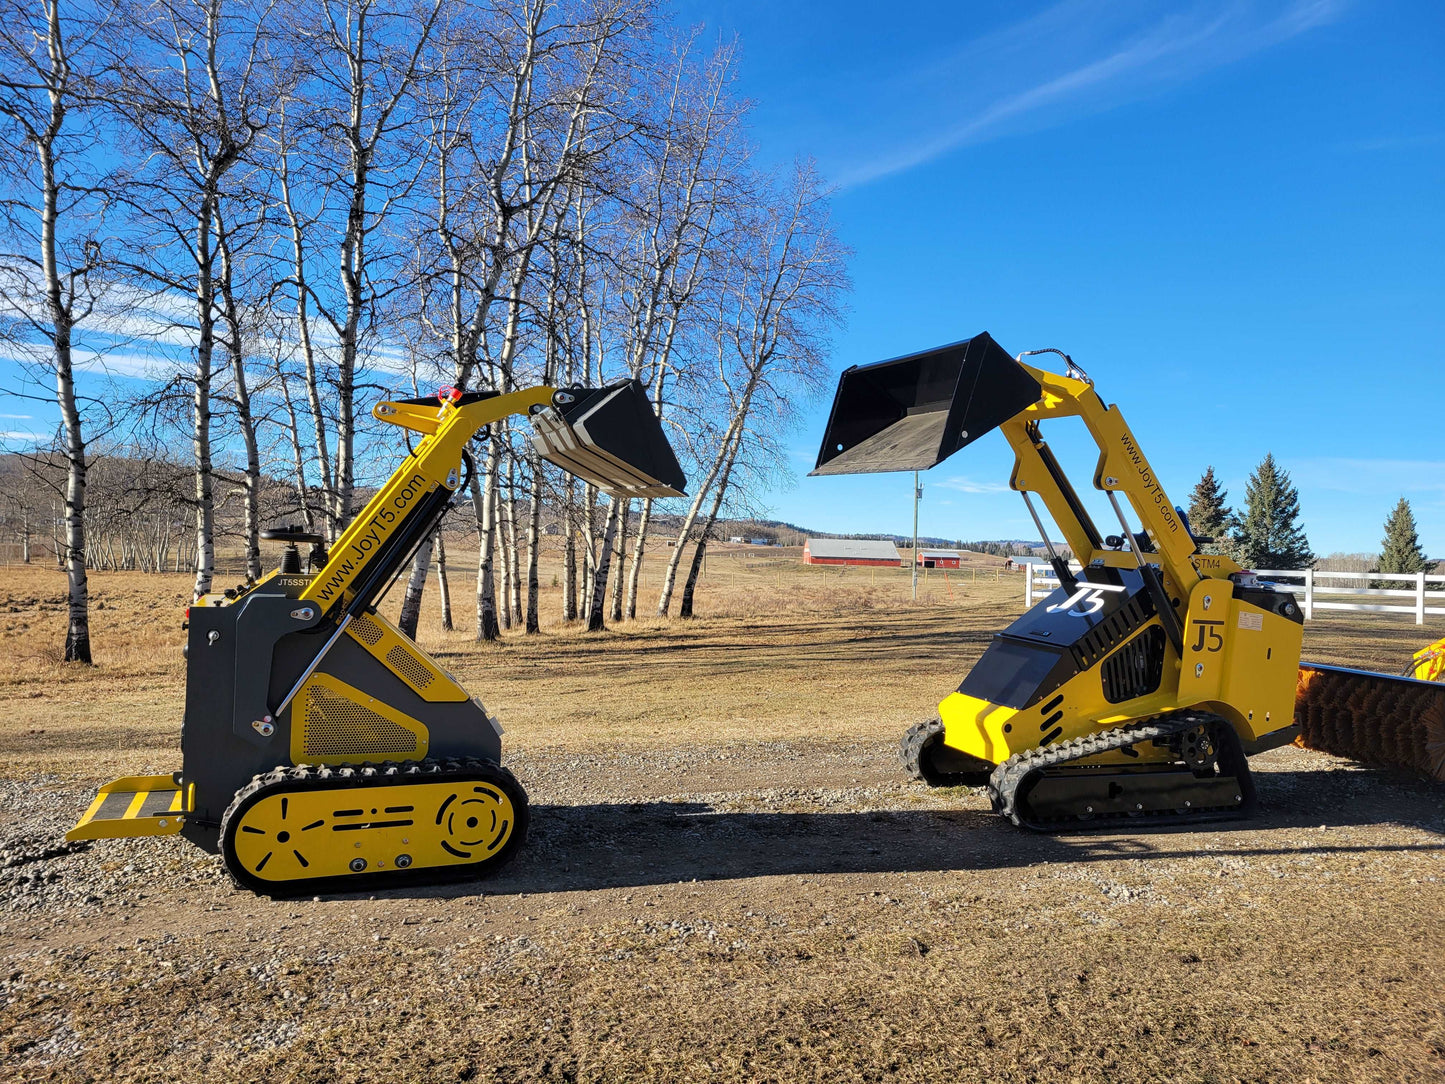
[[(1023, 363), (1040, 353), (1064, 357), (1066, 371)], [(1043, 441), (1042, 425), (1066, 416), (1098, 445), (1092, 481), (1117, 535), (1100, 532)], [(997, 812), (1039, 831), (1247, 812), (1247, 756), (1299, 733), (1303, 614), (1286, 587), (1199, 551), (1118, 409), (1066, 354), (1014, 358), (980, 334), (848, 369), (812, 473), (928, 470), (993, 429), (1014, 452), (1009, 484), (1059, 587), (994, 636), (936, 718), (909, 730), (905, 767), (935, 786), (988, 786)], [(1079, 569), (1055, 549), (1030, 494)], [(1445, 700), (1423, 681), (1309, 669), (1350, 688), (1389, 685), (1374, 702)], [(1340, 687), (1318, 684), (1327, 688)], [(1419, 730), (1413, 714), (1405, 726)]]

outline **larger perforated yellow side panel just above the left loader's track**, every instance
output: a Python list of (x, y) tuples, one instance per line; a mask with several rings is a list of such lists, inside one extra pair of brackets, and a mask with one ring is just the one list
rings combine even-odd
[(329, 674), (312, 674), (290, 713), (290, 759), (298, 765), (426, 756), (423, 723)]

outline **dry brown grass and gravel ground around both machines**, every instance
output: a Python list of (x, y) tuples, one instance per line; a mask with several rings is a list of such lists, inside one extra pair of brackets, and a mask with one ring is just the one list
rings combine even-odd
[[(894, 753), (1019, 578), (912, 603), (906, 572), (772, 558), (711, 556), (698, 620), (595, 636), (548, 588), (500, 645), (454, 575), (464, 630), (429, 608), (420, 639), (501, 715), (529, 846), (288, 902), (173, 838), (38, 857), (95, 783), (179, 766), (188, 582), (94, 577), (77, 671), (58, 574), (0, 571), (0, 1077), (1445, 1080), (1439, 789), (1286, 747), (1250, 821), (1025, 835)], [(1435, 636), (1331, 614), (1306, 656), (1396, 671)]]

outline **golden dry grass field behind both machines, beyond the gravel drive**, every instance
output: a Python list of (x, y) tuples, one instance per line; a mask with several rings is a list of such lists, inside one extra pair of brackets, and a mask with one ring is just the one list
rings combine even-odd
[[(737, 739), (893, 734), (933, 705), (1023, 608), (1019, 574), (803, 567), (724, 548), (708, 558), (689, 621), (642, 617), (607, 633), (562, 624), (556, 569), (543, 565), (542, 633), (474, 639), (473, 584), (452, 565), (458, 630), (442, 633), (435, 590), (419, 640), (499, 713), (513, 749), (646, 746)], [(640, 611), (655, 608), (660, 556), (649, 558)], [(0, 571), (0, 773), (98, 779), (175, 766), (184, 707), (185, 575), (91, 577), (97, 665), (66, 666), (64, 578)], [(400, 590), (383, 608), (394, 617)], [(1426, 639), (1389, 617), (1311, 621), (1305, 655), (1396, 672)], [(861, 668), (861, 669), (860, 669)]]

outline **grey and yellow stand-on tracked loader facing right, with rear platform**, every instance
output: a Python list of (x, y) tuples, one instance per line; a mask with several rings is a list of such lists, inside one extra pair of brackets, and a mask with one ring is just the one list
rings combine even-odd
[(108, 783), (66, 838), (179, 833), (276, 895), (477, 877), (522, 844), (527, 796), (501, 727), (377, 601), (467, 491), (468, 441), (509, 415), (604, 491), (673, 496), (686, 478), (636, 380), (448, 389), (373, 413), (420, 434), (416, 449), (329, 552), (269, 532), (289, 543), (280, 569), (188, 608), (181, 770)]

